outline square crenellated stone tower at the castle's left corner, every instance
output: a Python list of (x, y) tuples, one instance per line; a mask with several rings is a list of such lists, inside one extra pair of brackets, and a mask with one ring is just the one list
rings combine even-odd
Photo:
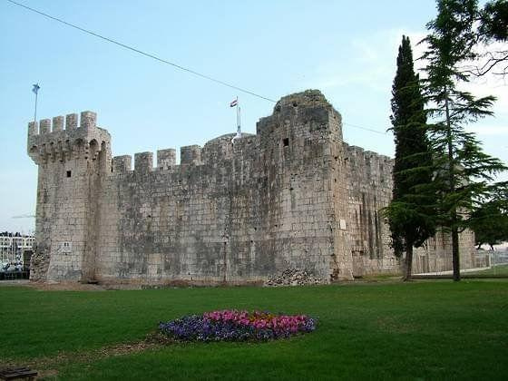
[[(28, 155), (38, 165), (32, 280), (94, 277), (97, 195), (111, 171), (110, 134), (95, 112), (28, 124)], [(65, 125), (64, 125), (65, 124)]]

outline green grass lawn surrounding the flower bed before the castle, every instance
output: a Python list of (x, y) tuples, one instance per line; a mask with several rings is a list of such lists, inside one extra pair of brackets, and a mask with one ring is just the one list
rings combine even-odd
[[(57, 379), (506, 379), (508, 281), (308, 288), (37, 291), (0, 287), (0, 363)], [(173, 344), (119, 355), (160, 320), (215, 308), (307, 313), (269, 343)], [(102, 349), (101, 349), (102, 348)], [(112, 356), (115, 355), (115, 356)]]

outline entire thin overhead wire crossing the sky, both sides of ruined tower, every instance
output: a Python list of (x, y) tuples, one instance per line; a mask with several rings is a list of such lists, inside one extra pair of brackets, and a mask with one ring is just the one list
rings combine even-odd
[[(136, 48), (136, 47), (134, 47), (132, 45), (122, 44), (122, 43), (120, 43), (120, 42), (118, 42), (116, 40), (113, 40), (112, 38), (106, 37), (106, 36), (104, 36), (102, 34), (95, 33), (95, 32), (93, 32), (93, 31), (91, 31), (89, 29), (85, 29), (85, 28), (83, 28), (81, 26), (78, 26), (76, 24), (69, 23), (69, 22), (67, 22), (67, 21), (65, 21), (65, 20), (63, 20), (61, 18), (55, 17), (53, 15), (45, 14), (44, 12), (39, 11), (37, 9), (34, 9), (34, 8), (28, 6), (28, 5), (24, 5), (24, 4), (18, 3), (18, 2), (14, 1), (14, 0), (7, 0), (7, 1), (9, 3), (11, 3), (11, 4), (14, 4), (14, 5), (17, 5), (17, 6), (21, 6), (22, 8), (24, 8), (24, 9), (30, 11), (30, 12), (34, 12), (37, 15), (42, 15), (42, 16), (44, 16), (46, 18), (49, 18), (51, 20), (54, 20), (54, 21), (56, 21), (58, 23), (70, 26), (73, 29), (77, 29), (78, 31), (83, 32), (85, 34), (93, 35), (94, 37), (100, 38), (103, 41), (106, 41), (108, 43), (118, 45), (118, 46), (120, 46), (120, 47), (122, 47), (124, 49), (130, 50), (130, 51), (132, 51), (134, 53), (137, 53), (137, 54), (142, 54), (145, 57), (148, 57), (148, 58), (151, 58), (153, 60), (156, 60), (156, 61), (160, 62), (161, 64), (168, 64), (168, 65), (173, 66), (173, 67), (175, 67), (175, 68), (177, 68), (177, 69), (179, 69), (179, 70), (181, 70), (183, 72), (194, 74), (194, 75), (196, 75), (196, 76), (198, 76), (200, 78), (209, 80), (209, 81), (214, 82), (214, 83), (219, 83), (219, 84), (221, 84), (223, 86), (230, 87), (231, 89), (238, 90), (241, 93), (248, 93), (249, 95), (258, 97), (258, 98), (263, 99), (265, 101), (269, 101), (271, 103), (276, 103), (276, 101), (274, 101), (273, 99), (270, 99), (269, 97), (260, 95), (259, 93), (251, 92), (251, 91), (249, 91), (247, 89), (244, 89), (242, 87), (239, 87), (239, 86), (237, 86), (235, 84), (227, 83), (227, 82), (221, 81), (221, 80), (219, 80), (217, 78), (211, 77), (210, 75), (199, 73), (199, 72), (196, 72), (196, 71), (194, 71), (192, 69), (189, 69), (187, 67), (181, 66), (180, 64), (172, 63), (171, 61), (165, 60), (165, 59), (163, 59), (163, 58), (161, 58), (161, 57), (159, 57), (159, 56), (157, 56), (155, 54), (150, 54), (150, 53), (144, 52), (141, 49), (138, 49), (138, 48)], [(356, 125), (356, 124), (351, 124), (351, 123), (346, 123), (346, 122), (343, 123), (343, 124), (347, 125), (347, 126), (350, 126), (350, 127), (353, 127), (353, 128), (360, 129), (360, 130), (368, 131), (368, 132), (375, 132), (375, 133), (378, 133), (378, 134), (381, 134), (381, 135), (385, 135), (386, 134), (386, 132), (381, 132), (381, 131), (374, 130), (374, 129), (371, 129), (371, 128), (362, 127), (362, 126), (359, 126), (359, 125)]]

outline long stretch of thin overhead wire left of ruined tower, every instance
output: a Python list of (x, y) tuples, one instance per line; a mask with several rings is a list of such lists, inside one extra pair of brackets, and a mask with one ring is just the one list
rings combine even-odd
[(96, 33), (92, 32), (92, 31), (90, 31), (90, 30), (88, 30), (88, 29), (84, 29), (84, 28), (82, 28), (81, 26), (78, 26), (78, 25), (75, 25), (75, 24), (71, 24), (71, 23), (67, 23), (66, 21), (64, 21), (64, 20), (62, 20), (62, 19), (60, 19), (60, 18), (58, 18), (58, 17), (54, 17), (54, 16), (52, 16), (52, 15), (47, 15), (47, 14), (44, 14), (44, 12), (38, 11), (38, 10), (36, 10), (36, 9), (34, 9), (34, 8), (31, 8), (30, 6), (27, 6), (27, 5), (23, 5), (23, 4), (17, 3), (17, 2), (15, 2), (14, 0), (7, 0), (7, 1), (8, 1), (9, 3), (14, 4), (14, 5), (21, 6), (22, 8), (27, 9), (27, 10), (29, 10), (29, 11), (31, 11), (31, 12), (34, 12), (34, 13), (36, 13), (36, 14), (38, 14), (38, 15), (44, 15), (44, 17), (50, 18), (50, 19), (52, 19), (52, 20), (54, 20), (54, 21), (56, 21), (56, 22), (58, 22), (58, 23), (62, 23), (62, 24), (65, 24), (65, 25), (67, 25), (67, 26), (71, 26), (72, 28), (77, 29), (77, 30), (79, 30), (79, 31), (81, 31), (81, 32), (84, 32), (84, 33), (86, 33), (86, 34), (91, 34), (91, 35), (93, 35), (94, 37), (97, 37), (97, 38), (101, 38), (101, 39), (103, 39), (104, 41), (107, 41), (108, 43), (116, 44), (116, 45), (118, 45), (118, 46), (121, 46), (121, 47), (122, 47), (122, 48), (124, 48), (124, 49), (128, 49), (128, 50), (131, 50), (132, 52), (135, 52), (135, 53), (138, 53), (138, 54), (142, 54), (142, 55), (144, 55), (144, 56), (147, 56), (147, 57), (149, 57), (149, 58), (152, 58), (152, 59), (154, 59), (154, 60), (157, 60), (157, 61), (161, 62), (162, 64), (169, 64), (169, 65), (171, 65), (171, 66), (173, 66), (173, 67), (176, 67), (177, 69), (180, 69), (180, 70), (182, 70), (182, 71), (184, 71), (184, 72), (187, 72), (187, 73), (191, 73), (191, 74), (197, 75), (197, 76), (199, 76), (199, 77), (201, 77), (201, 78), (207, 79), (207, 80), (212, 81), (212, 82), (214, 82), (214, 83), (220, 83), (220, 84), (222, 84), (222, 85), (224, 85), (224, 86), (230, 87), (231, 89), (238, 90), (239, 92), (242, 92), (242, 93), (248, 93), (248, 94), (250, 94), (250, 95), (256, 96), (256, 97), (261, 98), (261, 99), (264, 99), (264, 100), (266, 100), (266, 101), (269, 101), (269, 102), (272, 102), (272, 103), (276, 103), (276, 101), (274, 101), (273, 99), (269, 99), (269, 98), (267, 98), (267, 97), (265, 97), (265, 96), (263, 96), (263, 95), (259, 95), (259, 94), (257, 94), (257, 93), (252, 93), (252, 92), (250, 92), (249, 90), (243, 89), (243, 88), (241, 88), (241, 87), (239, 87), (239, 86), (235, 86), (234, 84), (227, 83), (227, 82), (224, 82), (224, 81), (220, 81), (220, 80), (218, 80), (218, 79), (216, 79), (216, 78), (210, 77), (210, 75), (206, 75), (206, 74), (198, 73), (198, 72), (195, 72), (194, 70), (188, 69), (188, 68), (183, 67), (183, 66), (181, 66), (181, 65), (179, 65), (179, 64), (174, 64), (174, 63), (171, 63), (170, 61), (164, 60), (163, 58), (158, 57), (157, 55), (154, 55), (154, 54), (150, 54), (150, 53), (143, 52), (142, 50), (137, 49), (137, 48), (132, 47), (132, 46), (127, 45), (127, 44), (122, 44), (122, 43), (119, 43), (118, 41), (115, 41), (115, 40), (113, 40), (112, 38), (105, 37), (105, 36), (103, 36), (103, 35), (101, 35), (101, 34), (96, 34)]

